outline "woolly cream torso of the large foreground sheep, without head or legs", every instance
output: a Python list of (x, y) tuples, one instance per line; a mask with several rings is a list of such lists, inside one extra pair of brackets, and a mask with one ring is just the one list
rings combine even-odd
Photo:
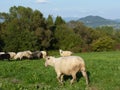
[(68, 56), (58, 58), (55, 63), (55, 68), (57, 71), (69, 75), (72, 70), (75, 68), (79, 70), (82, 65), (84, 66), (84, 60), (81, 57)]

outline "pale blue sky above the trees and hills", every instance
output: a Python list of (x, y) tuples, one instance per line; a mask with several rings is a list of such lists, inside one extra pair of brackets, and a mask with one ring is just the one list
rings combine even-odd
[(120, 19), (120, 0), (2, 0), (0, 12), (9, 12), (10, 7), (24, 6), (39, 10), (44, 17), (101, 16)]

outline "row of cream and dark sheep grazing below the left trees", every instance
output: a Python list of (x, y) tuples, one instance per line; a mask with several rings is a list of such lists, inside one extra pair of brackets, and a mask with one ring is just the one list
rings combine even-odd
[(46, 51), (21, 51), (15, 52), (0, 52), (0, 60), (22, 60), (22, 59), (40, 59), (47, 55)]

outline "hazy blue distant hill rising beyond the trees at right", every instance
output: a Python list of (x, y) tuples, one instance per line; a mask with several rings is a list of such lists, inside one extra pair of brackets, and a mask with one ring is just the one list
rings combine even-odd
[(105, 19), (100, 16), (86, 16), (78, 19), (78, 21), (83, 22), (89, 27), (99, 27), (99, 26), (112, 26), (114, 28), (120, 28), (120, 20), (110, 20)]

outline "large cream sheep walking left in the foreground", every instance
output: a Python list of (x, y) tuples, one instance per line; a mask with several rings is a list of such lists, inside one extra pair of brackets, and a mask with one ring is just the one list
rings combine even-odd
[(85, 62), (79, 56), (67, 56), (55, 58), (52, 56), (47, 56), (45, 58), (45, 66), (53, 66), (57, 74), (58, 81), (63, 84), (64, 75), (72, 75), (72, 84), (76, 80), (77, 72), (81, 71), (82, 75), (86, 79), (86, 84), (88, 85), (88, 76), (85, 70)]

